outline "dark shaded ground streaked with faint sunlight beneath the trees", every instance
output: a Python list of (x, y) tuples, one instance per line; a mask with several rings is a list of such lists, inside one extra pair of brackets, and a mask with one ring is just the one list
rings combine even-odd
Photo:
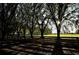
[[(79, 54), (78, 43), (63, 41), (62, 45), (64, 54)], [(0, 41), (0, 55), (51, 55), (53, 48), (53, 43), (50, 40), (44, 41), (43, 44), (38, 40), (37, 43), (31, 40)]]

